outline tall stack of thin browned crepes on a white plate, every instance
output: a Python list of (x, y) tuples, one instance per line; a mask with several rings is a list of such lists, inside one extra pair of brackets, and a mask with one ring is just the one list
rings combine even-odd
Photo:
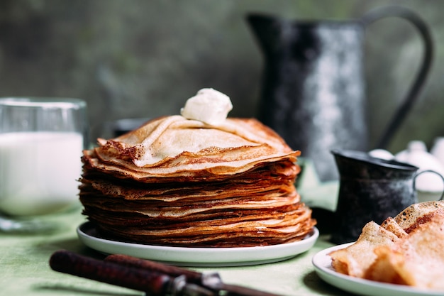
[(161, 246), (268, 246), (314, 221), (294, 151), (255, 119), (165, 116), (84, 150), (80, 200), (106, 236)]

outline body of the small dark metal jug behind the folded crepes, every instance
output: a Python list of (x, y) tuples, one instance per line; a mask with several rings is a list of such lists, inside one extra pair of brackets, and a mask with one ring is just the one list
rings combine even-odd
[(418, 168), (395, 160), (373, 158), (355, 150), (332, 150), (340, 175), (338, 206), (331, 241), (356, 241), (369, 221), (387, 217), (418, 202), (414, 180)]

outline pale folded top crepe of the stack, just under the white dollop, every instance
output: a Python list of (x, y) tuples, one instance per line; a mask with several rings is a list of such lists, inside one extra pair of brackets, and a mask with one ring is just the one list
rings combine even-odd
[[(255, 119), (226, 119), (210, 126), (183, 116), (166, 116), (94, 149), (96, 168), (145, 177), (211, 177), (245, 172), (260, 162), (296, 161), (274, 131)], [(101, 164), (106, 163), (106, 167)]]

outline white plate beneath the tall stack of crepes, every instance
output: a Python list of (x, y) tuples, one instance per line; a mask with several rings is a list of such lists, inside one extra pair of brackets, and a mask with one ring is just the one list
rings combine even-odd
[(245, 248), (187, 248), (112, 241), (99, 236), (90, 222), (80, 225), (77, 235), (86, 246), (106, 254), (120, 253), (185, 266), (240, 266), (284, 261), (304, 253), (316, 243), (319, 231), (314, 227), (306, 239), (294, 243)]

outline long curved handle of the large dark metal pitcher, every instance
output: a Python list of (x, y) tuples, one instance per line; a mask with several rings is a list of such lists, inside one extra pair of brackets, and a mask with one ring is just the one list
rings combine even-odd
[(410, 111), (411, 106), (413, 106), (414, 101), (417, 99), (419, 92), (423, 88), (424, 82), (426, 82), (426, 78), (428, 76), (428, 72), (430, 72), (433, 60), (433, 40), (431, 33), (428, 29), (427, 24), (422, 20), (422, 18), (414, 13), (414, 11), (401, 6), (384, 6), (373, 9), (369, 13), (366, 13), (365, 16), (361, 18), (361, 21), (364, 26), (367, 27), (368, 25), (370, 25), (370, 23), (373, 23), (374, 21), (378, 21), (379, 19), (391, 16), (404, 18), (407, 21), (411, 22), (418, 29), (423, 40), (424, 52), (421, 67), (418, 71), (418, 74), (416, 75), (414, 83), (409, 89), (409, 93), (404, 99), (404, 102), (397, 109), (395, 116), (392, 118), (389, 126), (384, 131), (382, 138), (380, 138), (379, 142), (377, 143), (376, 148), (382, 149), (387, 147), (387, 144), (391, 140), (392, 136), (399, 128), (402, 121), (404, 121), (406, 114)]

